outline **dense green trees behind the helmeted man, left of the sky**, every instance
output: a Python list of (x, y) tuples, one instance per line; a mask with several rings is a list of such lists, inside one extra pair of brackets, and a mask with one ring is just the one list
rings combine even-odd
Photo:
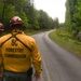
[(58, 28), (58, 19), (53, 19), (42, 10), (37, 10), (31, 0), (0, 0), (0, 22), (9, 29), (11, 17), (22, 17), (25, 29)]

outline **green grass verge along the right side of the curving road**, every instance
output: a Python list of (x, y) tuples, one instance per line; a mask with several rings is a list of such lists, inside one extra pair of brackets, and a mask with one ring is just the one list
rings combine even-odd
[(72, 52), (73, 54), (81, 56), (81, 42), (72, 39), (71, 35), (67, 31), (55, 30), (50, 32), (49, 37), (59, 45)]

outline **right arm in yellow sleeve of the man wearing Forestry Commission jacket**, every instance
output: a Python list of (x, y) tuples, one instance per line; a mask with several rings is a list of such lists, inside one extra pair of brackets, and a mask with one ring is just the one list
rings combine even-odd
[(35, 77), (36, 80), (38, 80), (41, 73), (41, 55), (38, 51), (36, 41), (33, 42), (33, 49), (32, 49), (32, 64), (35, 67)]

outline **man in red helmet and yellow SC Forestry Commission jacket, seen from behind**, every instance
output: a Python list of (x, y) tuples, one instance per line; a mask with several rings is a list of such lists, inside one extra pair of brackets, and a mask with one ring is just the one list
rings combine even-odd
[(36, 40), (23, 31), (24, 23), (14, 16), (10, 21), (11, 33), (0, 38), (0, 65), (3, 65), (3, 81), (36, 81), (41, 73), (41, 55)]

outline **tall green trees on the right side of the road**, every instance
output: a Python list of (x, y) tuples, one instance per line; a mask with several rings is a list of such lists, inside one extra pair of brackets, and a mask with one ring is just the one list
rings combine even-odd
[(66, 29), (81, 41), (81, 0), (66, 1)]

